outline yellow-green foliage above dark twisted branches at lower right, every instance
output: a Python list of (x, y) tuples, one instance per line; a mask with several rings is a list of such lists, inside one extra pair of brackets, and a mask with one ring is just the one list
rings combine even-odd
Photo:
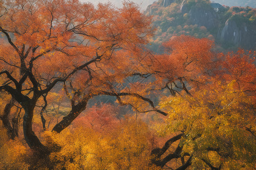
[(222, 164), (224, 169), (251, 169), (256, 162), (253, 99), (234, 88), (236, 81), (217, 84), (193, 96), (164, 99), (160, 105), (169, 117), (162, 131), (184, 131), (183, 152), (193, 154), (195, 169), (208, 167), (205, 162)]

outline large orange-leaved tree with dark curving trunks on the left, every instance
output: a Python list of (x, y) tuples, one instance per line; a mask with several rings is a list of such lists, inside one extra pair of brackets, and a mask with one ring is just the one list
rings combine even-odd
[(5, 37), (0, 48), (0, 90), (24, 109), (24, 138), (39, 152), (47, 152), (32, 130), (40, 97), (57, 91), (61, 82), (70, 82), (72, 109), (53, 128), (59, 133), (90, 98), (100, 95), (98, 91), (111, 89), (109, 84), (123, 82), (125, 76), (141, 69), (137, 68), (141, 44), (152, 33), (150, 18), (134, 3), (116, 9), (79, 1), (7, 0), (0, 7), (0, 31)]

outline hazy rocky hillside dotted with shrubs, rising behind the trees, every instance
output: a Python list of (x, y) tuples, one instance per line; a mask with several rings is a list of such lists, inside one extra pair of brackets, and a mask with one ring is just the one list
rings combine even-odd
[[(219, 5), (218, 11), (214, 7)], [(256, 49), (256, 8), (228, 7), (208, 0), (160, 0), (147, 7), (154, 16), (156, 36), (151, 49), (172, 36), (207, 37), (216, 42), (216, 50)]]

